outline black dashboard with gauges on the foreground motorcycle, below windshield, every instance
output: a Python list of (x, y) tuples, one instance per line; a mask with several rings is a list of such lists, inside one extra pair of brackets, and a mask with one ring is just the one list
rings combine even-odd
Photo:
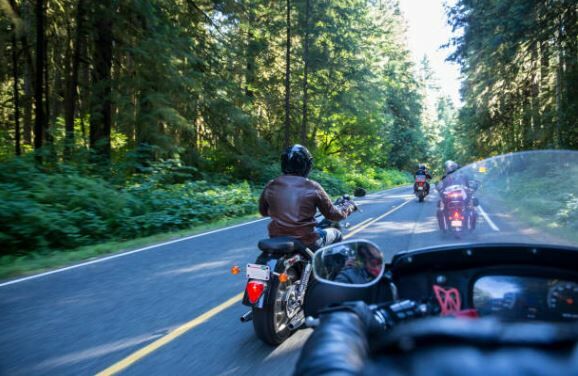
[(431, 303), (440, 312), (438, 299), (449, 295), (440, 297), (439, 291), (457, 290), (460, 309), (475, 309), (479, 316), (578, 321), (576, 265), (574, 247), (456, 244), (398, 253), (386, 273), (398, 299)]

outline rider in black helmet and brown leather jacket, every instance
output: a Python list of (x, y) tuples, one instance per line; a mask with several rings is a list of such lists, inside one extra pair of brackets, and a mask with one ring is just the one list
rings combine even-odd
[(259, 198), (259, 212), (271, 217), (269, 237), (290, 236), (304, 245), (318, 249), (342, 240), (335, 228), (316, 228), (317, 209), (331, 221), (345, 219), (355, 210), (350, 201), (333, 205), (323, 187), (307, 178), (313, 156), (306, 147), (295, 144), (281, 155), (283, 175), (271, 180)]

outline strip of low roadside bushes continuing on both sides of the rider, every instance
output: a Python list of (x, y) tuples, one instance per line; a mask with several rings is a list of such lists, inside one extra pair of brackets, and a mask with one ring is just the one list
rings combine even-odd
[[(129, 179), (104, 179), (75, 165), (39, 169), (32, 160), (0, 166), (0, 255), (73, 249), (189, 228), (257, 211), (264, 184), (279, 176), (277, 164), (261, 166), (259, 179), (233, 181), (179, 161), (151, 163)], [(330, 195), (356, 188), (377, 190), (408, 182), (398, 171), (338, 173), (314, 170)]]

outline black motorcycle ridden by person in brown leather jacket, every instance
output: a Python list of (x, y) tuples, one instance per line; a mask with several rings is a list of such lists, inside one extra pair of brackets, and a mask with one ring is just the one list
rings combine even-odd
[[(355, 203), (347, 195), (334, 202), (335, 206)], [(347, 223), (316, 216), (318, 228), (342, 230)], [(247, 264), (247, 284), (243, 305), (251, 309), (241, 316), (241, 322), (253, 322), (255, 334), (269, 345), (279, 345), (303, 326), (303, 304), (312, 272), (313, 250), (291, 237), (260, 240), (261, 254)], [(238, 266), (233, 267), (239, 272)]]

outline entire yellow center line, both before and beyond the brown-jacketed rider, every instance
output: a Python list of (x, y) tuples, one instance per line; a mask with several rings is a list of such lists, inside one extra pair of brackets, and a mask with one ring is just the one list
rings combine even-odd
[[(412, 201), (412, 199), (407, 200), (406, 202), (404, 202), (401, 205), (396, 206), (395, 208), (387, 211), (386, 213), (380, 215), (379, 217), (375, 218), (375, 219), (371, 219), (368, 218), (365, 221), (355, 225), (353, 228), (355, 228), (354, 231), (351, 231), (350, 233), (348, 233), (347, 235), (345, 235), (343, 238), (347, 239), (352, 237), (353, 235), (357, 234), (358, 232), (366, 229), (368, 226), (372, 225), (373, 223), (379, 221), (382, 218), (385, 218), (386, 216), (390, 215), (391, 213), (395, 212), (396, 210), (400, 209), (401, 207), (407, 205), (410, 201)], [(227, 300), (226, 302), (219, 304), (218, 306), (210, 309), (209, 311), (203, 313), (202, 315), (194, 318), (193, 320), (179, 326), (178, 328), (176, 328), (175, 330), (173, 330), (172, 332), (170, 332), (169, 334), (167, 334), (164, 337), (161, 337), (159, 339), (157, 339), (156, 341), (148, 344), (147, 346), (143, 347), (140, 350), (135, 351), (134, 353), (132, 353), (131, 355), (127, 356), (126, 358), (120, 360), (119, 362), (113, 364), (112, 366), (108, 367), (107, 369), (105, 369), (104, 371), (101, 371), (99, 373), (96, 374), (96, 376), (110, 376), (110, 375), (116, 375), (119, 372), (127, 369), (128, 367), (130, 367), (131, 365), (133, 365), (134, 363), (136, 363), (137, 361), (143, 359), (144, 357), (146, 357), (147, 355), (151, 354), (152, 352), (158, 350), (159, 348), (161, 348), (162, 346), (166, 345), (167, 343), (173, 341), (174, 339), (182, 336), (183, 334), (185, 334), (186, 332), (188, 332), (191, 329), (196, 328), (197, 326), (203, 324), (204, 322), (208, 321), (209, 319), (211, 319), (213, 316), (221, 313), (222, 311), (224, 311), (225, 309), (231, 307), (232, 305), (238, 303), (241, 301), (241, 299), (243, 299), (243, 294), (244, 292), (241, 292), (235, 296), (233, 296), (231, 299)]]

